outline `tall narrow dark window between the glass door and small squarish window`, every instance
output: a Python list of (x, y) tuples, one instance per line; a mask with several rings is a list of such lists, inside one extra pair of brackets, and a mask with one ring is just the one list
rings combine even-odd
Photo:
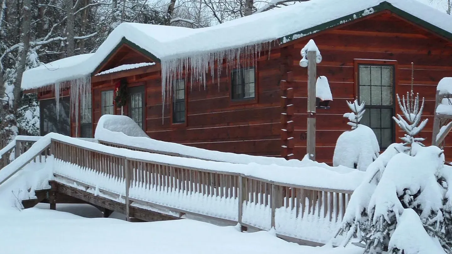
[[(178, 89), (178, 86), (180, 82), (184, 82), (183, 89)], [(177, 85), (176, 85), (177, 84)], [(173, 88), (172, 88), (172, 96), (171, 96), (171, 124), (175, 126), (187, 126), (187, 83), (184, 78), (181, 78), (179, 80), (173, 81)], [(176, 94), (178, 91), (184, 90), (184, 99), (176, 99)], [(179, 110), (176, 112), (176, 108), (180, 108), (181, 105), (184, 107), (184, 111)], [(181, 116), (184, 116), (184, 119), (180, 119)]]

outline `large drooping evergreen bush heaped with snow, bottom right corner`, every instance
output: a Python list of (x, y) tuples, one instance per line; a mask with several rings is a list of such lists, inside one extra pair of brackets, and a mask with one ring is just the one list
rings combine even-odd
[(452, 253), (452, 167), (437, 146), (411, 151), (392, 144), (369, 166), (338, 231), (341, 245), (356, 238), (369, 254)]

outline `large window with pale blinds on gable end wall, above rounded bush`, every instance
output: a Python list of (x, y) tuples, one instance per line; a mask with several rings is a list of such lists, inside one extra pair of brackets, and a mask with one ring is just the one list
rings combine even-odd
[(358, 65), (359, 101), (366, 102), (361, 124), (371, 127), (382, 149), (393, 142), (394, 66)]

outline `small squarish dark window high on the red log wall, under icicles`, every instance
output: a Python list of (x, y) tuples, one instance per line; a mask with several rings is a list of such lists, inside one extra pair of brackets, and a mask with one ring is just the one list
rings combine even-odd
[(231, 99), (254, 99), (254, 67), (233, 70), (231, 86)]

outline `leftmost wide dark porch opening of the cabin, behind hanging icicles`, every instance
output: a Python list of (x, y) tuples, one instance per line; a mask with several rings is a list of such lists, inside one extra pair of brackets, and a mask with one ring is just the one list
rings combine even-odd
[(56, 115), (56, 100), (45, 99), (39, 101), (41, 136), (50, 132), (71, 135), (71, 119), (69, 117), (69, 96), (61, 97)]

